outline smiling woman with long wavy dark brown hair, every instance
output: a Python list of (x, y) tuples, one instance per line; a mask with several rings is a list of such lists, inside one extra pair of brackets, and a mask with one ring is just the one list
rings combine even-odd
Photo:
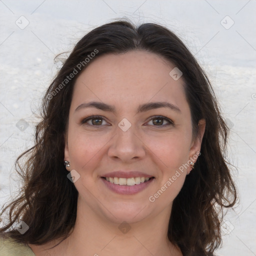
[(93, 29), (47, 89), (35, 145), (17, 159), (29, 154), (23, 190), (3, 208), (4, 255), (213, 255), (222, 207), (236, 201), (227, 134), (175, 34), (127, 21)]

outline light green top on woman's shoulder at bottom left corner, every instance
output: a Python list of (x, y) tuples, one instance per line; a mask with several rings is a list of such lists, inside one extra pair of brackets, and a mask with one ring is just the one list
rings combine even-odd
[(0, 237), (0, 256), (35, 256), (28, 245)]

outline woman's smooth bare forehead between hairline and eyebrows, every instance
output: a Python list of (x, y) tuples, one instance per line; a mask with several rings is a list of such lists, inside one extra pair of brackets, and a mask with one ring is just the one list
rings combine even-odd
[(187, 107), (183, 81), (169, 75), (173, 68), (163, 57), (147, 51), (99, 56), (77, 77), (71, 108), (89, 100), (114, 102), (117, 107), (168, 101), (182, 110)]

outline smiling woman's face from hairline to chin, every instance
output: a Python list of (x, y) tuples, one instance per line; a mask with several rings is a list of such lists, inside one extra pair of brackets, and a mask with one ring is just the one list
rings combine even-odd
[(78, 76), (64, 159), (85, 211), (118, 223), (169, 214), (200, 150), (173, 68), (154, 53), (130, 51), (100, 56)]

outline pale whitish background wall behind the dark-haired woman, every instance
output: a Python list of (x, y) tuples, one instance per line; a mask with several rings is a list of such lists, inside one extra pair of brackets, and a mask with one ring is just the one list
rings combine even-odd
[[(231, 127), (228, 157), (237, 167), (239, 203), (224, 218), (227, 234), (217, 254), (256, 255), (255, 13), (256, 0), (0, 0), (0, 204), (15, 195), (13, 164), (33, 144), (33, 112), (56, 73), (55, 55), (115, 18), (157, 22), (205, 69)], [(20, 119), (29, 124), (23, 131)]]

